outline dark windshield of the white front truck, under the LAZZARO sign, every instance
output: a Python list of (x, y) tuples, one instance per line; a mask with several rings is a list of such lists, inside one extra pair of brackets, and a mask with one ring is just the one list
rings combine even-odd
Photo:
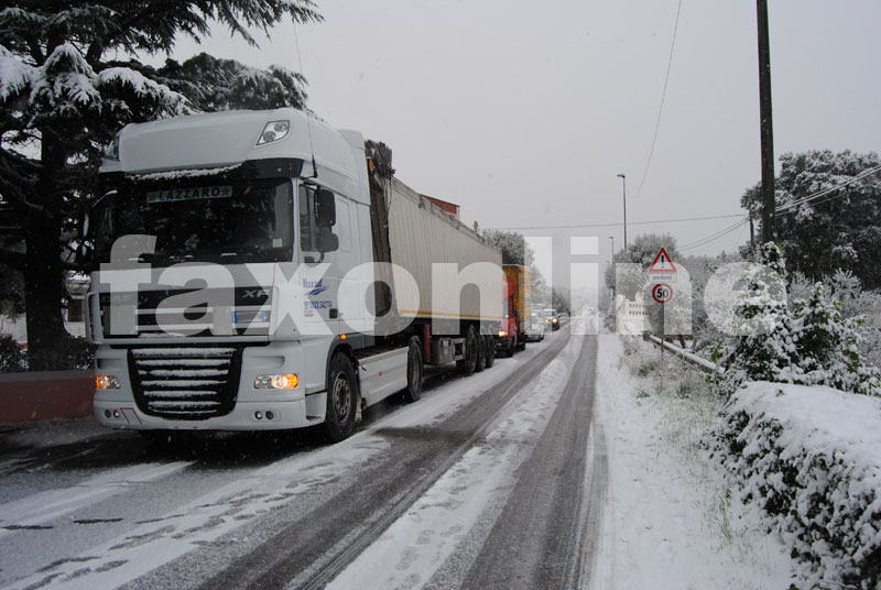
[(156, 237), (151, 262), (293, 260), (291, 181), (153, 184), (105, 196), (95, 210), (99, 261), (122, 236)]

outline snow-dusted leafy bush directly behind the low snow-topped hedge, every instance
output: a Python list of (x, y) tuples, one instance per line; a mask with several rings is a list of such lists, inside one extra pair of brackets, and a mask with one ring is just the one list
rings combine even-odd
[(881, 372), (863, 361), (858, 348), (864, 318), (844, 317), (842, 304), (823, 283), (788, 307), (772, 280), (786, 278), (780, 248), (768, 243), (761, 256), (764, 269), (749, 271), (747, 291), (735, 308), (737, 336), (714, 353), (725, 369), (719, 391), (731, 394), (747, 381), (772, 381), (881, 395)]

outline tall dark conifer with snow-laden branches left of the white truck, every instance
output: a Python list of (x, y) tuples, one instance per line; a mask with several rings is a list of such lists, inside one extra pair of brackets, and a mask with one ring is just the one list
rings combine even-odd
[[(267, 90), (253, 70), (235, 72), (228, 94), (175, 90), (171, 66), (167, 77), (153, 76), (118, 62), (120, 54), (167, 54), (178, 34), (199, 40), (213, 22), (254, 43), (249, 28), (268, 30), (287, 15), (319, 20), (311, 0), (21, 0), (0, 10), (0, 207), (14, 212), (24, 244), (0, 250), (0, 263), (24, 275), (32, 370), (64, 363), (64, 247), (87, 206), (101, 146), (128, 122)], [(297, 86), (295, 75), (271, 74), (281, 87)]]

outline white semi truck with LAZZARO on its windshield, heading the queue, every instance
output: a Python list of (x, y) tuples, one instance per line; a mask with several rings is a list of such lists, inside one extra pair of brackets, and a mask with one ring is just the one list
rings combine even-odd
[(337, 441), (426, 364), (490, 367), (501, 254), (385, 160), (286, 108), (124, 127), (89, 217), (97, 419)]

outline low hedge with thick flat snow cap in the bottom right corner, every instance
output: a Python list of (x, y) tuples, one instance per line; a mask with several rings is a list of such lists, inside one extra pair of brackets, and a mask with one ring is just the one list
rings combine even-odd
[(881, 589), (881, 400), (749, 383), (708, 446), (806, 564), (805, 587)]

